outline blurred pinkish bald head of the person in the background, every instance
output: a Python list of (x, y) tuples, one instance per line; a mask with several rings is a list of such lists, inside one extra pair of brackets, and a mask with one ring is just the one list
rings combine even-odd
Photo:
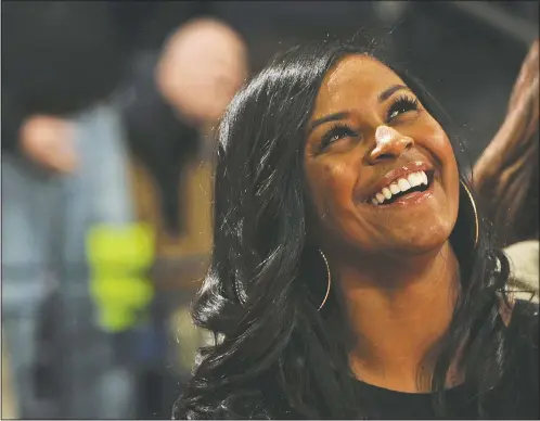
[(244, 41), (210, 18), (181, 26), (167, 41), (156, 72), (162, 94), (197, 127), (219, 120), (246, 77)]

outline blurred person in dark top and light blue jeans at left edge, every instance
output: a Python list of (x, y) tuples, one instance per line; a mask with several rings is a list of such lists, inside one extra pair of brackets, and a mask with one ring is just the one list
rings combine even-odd
[(86, 253), (92, 226), (133, 218), (110, 101), (125, 63), (106, 2), (2, 3), (2, 353), (22, 418), (129, 417), (129, 375), (97, 329)]

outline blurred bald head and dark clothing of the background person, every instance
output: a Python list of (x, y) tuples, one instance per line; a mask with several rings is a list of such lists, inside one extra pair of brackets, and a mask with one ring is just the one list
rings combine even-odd
[(208, 158), (213, 127), (246, 76), (243, 39), (213, 17), (182, 24), (160, 51), (133, 60), (119, 107), (132, 151), (158, 187), (164, 228), (172, 235), (185, 228), (178, 200), (182, 164)]

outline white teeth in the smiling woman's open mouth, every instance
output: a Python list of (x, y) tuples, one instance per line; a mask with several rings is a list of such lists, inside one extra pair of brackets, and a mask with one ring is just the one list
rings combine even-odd
[(434, 171), (416, 171), (391, 181), (380, 192), (373, 194), (367, 203), (375, 206), (391, 205), (393, 203), (414, 197), (427, 191), (433, 184)]

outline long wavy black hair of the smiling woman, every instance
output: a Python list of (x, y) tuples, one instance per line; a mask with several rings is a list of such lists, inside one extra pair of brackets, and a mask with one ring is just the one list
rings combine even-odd
[[(293, 48), (231, 102), (217, 148), (211, 263), (192, 310), (195, 324), (213, 332), (215, 343), (200, 350), (173, 418), (370, 417), (368, 403), (352, 393), (337, 294), (318, 311), (326, 272), (308, 224), (303, 150), (329, 69), (348, 54), (376, 53), (376, 46), (340, 41)], [(449, 132), (451, 122), (422, 85), (390, 68)], [(468, 187), (465, 173), (460, 179)], [(507, 260), (490, 245), (489, 227), (462, 193), (450, 239), (461, 294), (430, 380), (441, 416), (447, 372), (460, 349), (466, 382), (480, 396), (501, 378), (507, 357), (499, 316)], [(485, 416), (481, 397), (478, 413)]]

